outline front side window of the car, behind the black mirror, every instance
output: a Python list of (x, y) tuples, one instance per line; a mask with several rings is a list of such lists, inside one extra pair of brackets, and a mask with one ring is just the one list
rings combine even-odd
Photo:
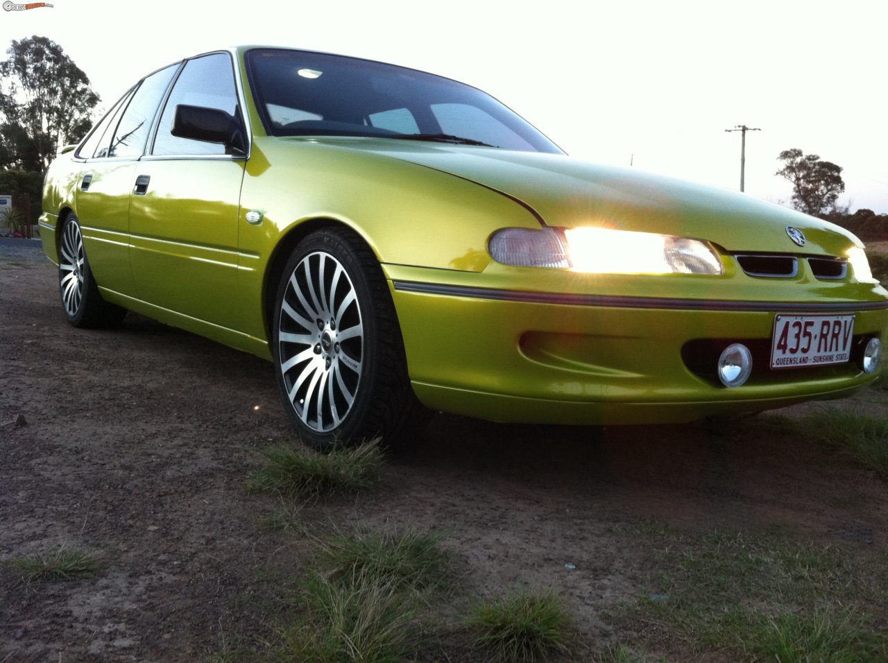
[(218, 108), (240, 117), (231, 57), (227, 53), (213, 53), (186, 62), (163, 110), (152, 151), (152, 154), (226, 154), (226, 147), (221, 143), (178, 138), (170, 133), (179, 104)]

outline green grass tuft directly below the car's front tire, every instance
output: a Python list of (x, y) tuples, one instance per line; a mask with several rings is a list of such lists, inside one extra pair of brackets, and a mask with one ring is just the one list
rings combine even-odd
[(328, 454), (289, 446), (264, 454), (266, 466), (253, 472), (248, 489), (304, 499), (374, 488), (382, 483), (385, 466), (378, 439), (361, 446), (340, 446)]

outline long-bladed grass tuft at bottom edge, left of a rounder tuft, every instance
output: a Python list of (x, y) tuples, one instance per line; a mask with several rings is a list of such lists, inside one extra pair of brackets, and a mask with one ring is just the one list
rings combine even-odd
[(284, 631), (286, 659), (400, 663), (421, 641), (415, 595), (375, 573), (336, 579), (313, 573), (304, 598), (308, 618)]

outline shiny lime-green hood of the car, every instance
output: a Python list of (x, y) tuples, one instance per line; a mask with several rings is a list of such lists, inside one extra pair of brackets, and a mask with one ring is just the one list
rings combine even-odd
[[(545, 225), (675, 234), (708, 240), (730, 252), (836, 256), (852, 244), (860, 245), (843, 228), (743, 193), (563, 154), (396, 139), (322, 142), (471, 180), (520, 201)], [(787, 226), (805, 233), (804, 247), (789, 239)]]

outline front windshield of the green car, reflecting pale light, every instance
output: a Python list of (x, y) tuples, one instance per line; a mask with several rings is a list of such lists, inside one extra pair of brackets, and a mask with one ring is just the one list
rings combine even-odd
[(283, 49), (247, 53), (273, 136), (374, 136), (560, 154), (488, 94), (441, 76), (364, 59)]

